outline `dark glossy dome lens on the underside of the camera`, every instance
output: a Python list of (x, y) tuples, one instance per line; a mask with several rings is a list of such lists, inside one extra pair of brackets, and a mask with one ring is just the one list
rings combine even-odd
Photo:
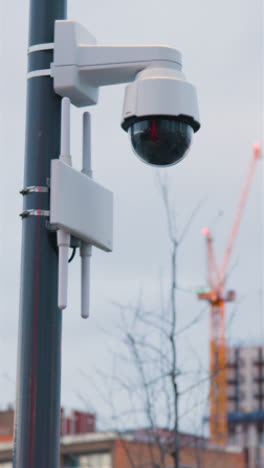
[(134, 151), (145, 163), (171, 166), (190, 147), (193, 129), (180, 120), (150, 117), (134, 122), (129, 133)]

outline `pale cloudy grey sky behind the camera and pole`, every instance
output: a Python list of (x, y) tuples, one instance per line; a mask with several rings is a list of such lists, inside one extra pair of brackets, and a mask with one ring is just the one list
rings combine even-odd
[[(16, 340), (23, 185), (26, 51), (26, 0), (1, 0), (0, 114), (0, 406), (15, 394)], [(15, 14), (14, 14), (15, 12)], [(262, 140), (262, 10), (261, 0), (69, 0), (68, 18), (75, 19), (102, 44), (164, 44), (183, 54), (183, 71), (198, 91), (202, 128), (189, 156), (166, 170), (177, 225), (184, 226), (199, 200), (197, 214), (179, 253), (179, 283), (189, 290), (178, 295), (179, 327), (201, 310), (195, 289), (206, 281), (201, 228), (213, 229), (221, 257), (233, 219), (254, 141)], [(79, 317), (79, 259), (71, 264), (69, 307), (64, 312), (62, 403), (80, 406), (80, 391), (89, 393), (85, 369), (110, 366), (109, 343), (102, 332), (115, 334), (117, 311), (111, 300), (133, 302), (144, 291), (146, 302), (158, 300), (157, 280), (168, 274), (169, 245), (155, 171), (138, 161), (127, 134), (120, 129), (124, 86), (100, 91), (93, 118), (94, 177), (114, 191), (114, 252), (94, 252), (91, 318)], [(81, 111), (72, 110), (72, 154), (81, 165)], [(164, 173), (164, 170), (162, 170)], [(239, 305), (228, 331), (232, 342), (263, 339), (261, 309), (261, 173), (257, 169), (233, 255), (229, 286)], [(221, 216), (219, 216), (219, 213)], [(228, 314), (232, 307), (228, 307)], [(113, 338), (109, 338), (113, 346)], [(207, 365), (208, 311), (179, 343), (182, 360), (191, 343)]]

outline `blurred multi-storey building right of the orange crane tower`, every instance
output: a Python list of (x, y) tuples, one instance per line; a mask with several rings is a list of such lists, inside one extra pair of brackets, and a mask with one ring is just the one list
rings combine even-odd
[(248, 468), (264, 468), (264, 346), (229, 347), (228, 442)]

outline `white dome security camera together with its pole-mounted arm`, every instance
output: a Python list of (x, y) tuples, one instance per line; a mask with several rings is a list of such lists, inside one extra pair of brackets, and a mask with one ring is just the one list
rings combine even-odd
[(200, 128), (196, 91), (181, 54), (166, 46), (101, 46), (74, 21), (56, 21), (54, 89), (72, 104), (97, 104), (100, 86), (128, 83), (121, 126), (135, 153), (154, 166), (176, 164)]

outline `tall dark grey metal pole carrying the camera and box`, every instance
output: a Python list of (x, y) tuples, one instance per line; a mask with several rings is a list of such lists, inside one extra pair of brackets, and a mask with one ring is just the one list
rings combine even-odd
[[(66, 0), (31, 0), (29, 47), (53, 43), (54, 21), (65, 17)], [(36, 49), (29, 49), (29, 72), (49, 69), (53, 60), (52, 49)], [(56, 236), (47, 229), (47, 186), (50, 160), (60, 153), (60, 105), (50, 76), (31, 74), (27, 85), (26, 216), (22, 221), (14, 468), (59, 467), (62, 318), (57, 307)]]

